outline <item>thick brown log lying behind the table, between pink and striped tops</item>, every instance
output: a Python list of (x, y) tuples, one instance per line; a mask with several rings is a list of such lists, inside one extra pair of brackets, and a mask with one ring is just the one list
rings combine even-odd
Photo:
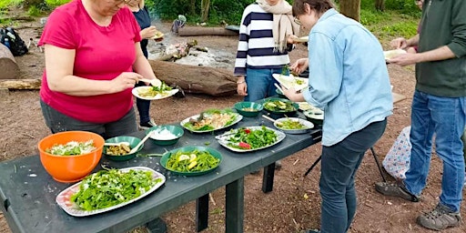
[(157, 60), (149, 63), (160, 80), (180, 86), (185, 93), (229, 96), (237, 92), (238, 77), (231, 70)]

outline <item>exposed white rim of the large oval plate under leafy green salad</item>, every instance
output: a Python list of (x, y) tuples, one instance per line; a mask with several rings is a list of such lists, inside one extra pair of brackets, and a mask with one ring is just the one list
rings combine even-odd
[(58, 194), (58, 196), (56, 196), (56, 203), (58, 204), (58, 206), (63, 208), (63, 210), (65, 210), (65, 212), (68, 215), (71, 215), (71, 216), (85, 217), (85, 216), (90, 216), (90, 215), (96, 215), (96, 214), (104, 213), (106, 211), (110, 211), (110, 210), (113, 210), (113, 209), (116, 209), (116, 208), (124, 207), (124, 206), (126, 206), (128, 204), (131, 204), (131, 203), (137, 201), (140, 198), (144, 198), (147, 195), (154, 192), (155, 190), (157, 190), (158, 187), (161, 187), (165, 183), (165, 180), (166, 180), (165, 176), (158, 173), (157, 171), (149, 168), (149, 167), (127, 167), (127, 168), (120, 169), (120, 171), (128, 172), (131, 169), (132, 170), (149, 171), (149, 172), (152, 173), (152, 177), (154, 179), (162, 178), (162, 182), (158, 182), (154, 187), (150, 188), (146, 193), (142, 194), (141, 196), (139, 196), (137, 198), (128, 200), (127, 202), (120, 203), (120, 204), (118, 204), (116, 206), (109, 207), (109, 208), (101, 208), (101, 209), (88, 211), (88, 210), (84, 210), (82, 208), (77, 207), (75, 203), (70, 201), (71, 196), (73, 194), (75, 194), (77, 191), (79, 191), (79, 185), (81, 184), (81, 182), (82, 182), (81, 181), (79, 183), (74, 184), (73, 186), (67, 187), (65, 190), (60, 192)]

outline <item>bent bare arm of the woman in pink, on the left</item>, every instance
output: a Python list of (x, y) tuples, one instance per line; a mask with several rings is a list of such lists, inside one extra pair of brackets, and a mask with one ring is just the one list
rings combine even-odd
[(97, 96), (132, 88), (138, 75), (122, 73), (113, 80), (92, 80), (73, 75), (76, 50), (45, 45), (47, 85), (70, 96)]

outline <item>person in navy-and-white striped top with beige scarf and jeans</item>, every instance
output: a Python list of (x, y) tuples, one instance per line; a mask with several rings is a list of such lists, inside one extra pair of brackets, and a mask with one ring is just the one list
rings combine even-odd
[(272, 74), (289, 74), (289, 35), (298, 35), (291, 5), (285, 0), (257, 0), (243, 12), (234, 75), (238, 95), (257, 101), (276, 95)]

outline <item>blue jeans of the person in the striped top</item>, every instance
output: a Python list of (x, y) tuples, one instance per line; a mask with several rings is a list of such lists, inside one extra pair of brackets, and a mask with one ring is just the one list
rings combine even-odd
[[(244, 101), (258, 101), (259, 99), (277, 96), (274, 84), (278, 84), (272, 74), (281, 74), (281, 68), (277, 69), (246, 69), (246, 84), (248, 85), (248, 96)], [(287, 72), (287, 76), (289, 73)]]

